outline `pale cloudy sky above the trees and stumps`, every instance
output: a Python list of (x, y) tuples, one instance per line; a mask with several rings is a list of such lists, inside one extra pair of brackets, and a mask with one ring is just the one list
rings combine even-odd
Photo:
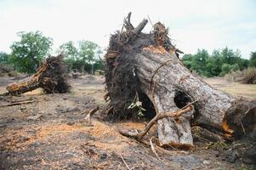
[[(62, 43), (80, 40), (107, 48), (128, 12), (134, 26), (148, 17), (168, 26), (185, 54), (227, 46), (248, 59), (256, 51), (256, 0), (0, 0), (0, 51), (10, 53), (20, 31), (52, 37), (53, 52)], [(144, 32), (151, 28), (147, 24)]]

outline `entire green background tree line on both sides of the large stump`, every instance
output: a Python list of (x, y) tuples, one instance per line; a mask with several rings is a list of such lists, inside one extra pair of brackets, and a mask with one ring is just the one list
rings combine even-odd
[[(11, 65), (16, 71), (33, 73), (52, 51), (53, 39), (43, 36), (42, 32), (19, 32), (20, 41), (10, 46), (11, 53), (0, 52), (0, 64)], [(103, 70), (100, 59), (102, 50), (98, 44), (90, 41), (65, 42), (60, 45), (58, 53), (65, 54), (65, 63), (69, 71), (94, 73)], [(250, 59), (243, 59), (239, 50), (230, 48), (214, 49), (209, 54), (206, 49), (198, 49), (196, 54), (185, 54), (184, 65), (205, 77), (224, 76), (230, 71), (256, 67), (256, 51)]]

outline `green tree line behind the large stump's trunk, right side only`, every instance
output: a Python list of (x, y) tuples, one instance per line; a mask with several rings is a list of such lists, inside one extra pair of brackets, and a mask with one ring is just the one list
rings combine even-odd
[(214, 49), (209, 54), (206, 49), (198, 49), (196, 54), (185, 54), (184, 65), (191, 71), (204, 77), (223, 77), (231, 71), (242, 71), (247, 67), (256, 67), (256, 51), (249, 59), (243, 59), (239, 50), (230, 48)]

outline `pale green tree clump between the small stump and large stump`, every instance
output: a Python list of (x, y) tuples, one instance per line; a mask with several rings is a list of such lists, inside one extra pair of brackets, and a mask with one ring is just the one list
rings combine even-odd
[(89, 41), (66, 42), (60, 46), (60, 51), (65, 53), (65, 63), (69, 71), (87, 71), (94, 74), (95, 70), (103, 69), (103, 62), (100, 60), (102, 51), (98, 44)]

